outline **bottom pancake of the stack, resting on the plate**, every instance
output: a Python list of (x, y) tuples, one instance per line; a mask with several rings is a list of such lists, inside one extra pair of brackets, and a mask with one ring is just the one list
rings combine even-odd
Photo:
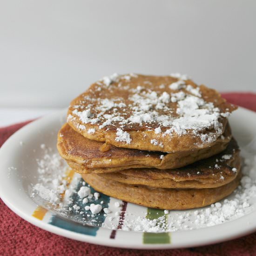
[(236, 179), (213, 189), (161, 189), (143, 185), (130, 185), (106, 179), (97, 174), (82, 174), (94, 189), (126, 202), (150, 208), (184, 210), (200, 208), (230, 195), (239, 185), (241, 171)]

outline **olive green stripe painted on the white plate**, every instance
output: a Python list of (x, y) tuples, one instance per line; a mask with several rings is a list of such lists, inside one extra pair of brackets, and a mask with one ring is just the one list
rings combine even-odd
[[(165, 216), (165, 223), (167, 223), (167, 215), (164, 214), (163, 210), (148, 208), (148, 214), (146, 218), (154, 220), (159, 217)], [(143, 233), (143, 243), (171, 243), (170, 233)]]

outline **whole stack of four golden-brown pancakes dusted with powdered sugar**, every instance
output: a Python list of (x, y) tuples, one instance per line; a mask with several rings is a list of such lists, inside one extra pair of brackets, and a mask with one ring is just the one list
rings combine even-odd
[(159, 209), (191, 209), (241, 178), (227, 117), (236, 106), (180, 74), (104, 77), (74, 99), (60, 155), (94, 189)]

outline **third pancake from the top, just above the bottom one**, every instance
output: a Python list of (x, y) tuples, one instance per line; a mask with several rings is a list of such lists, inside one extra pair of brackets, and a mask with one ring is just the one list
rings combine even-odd
[(205, 189), (223, 186), (234, 179), (241, 168), (239, 148), (234, 139), (220, 154), (195, 162), (183, 168), (159, 170), (137, 168), (99, 176), (126, 184), (155, 188)]

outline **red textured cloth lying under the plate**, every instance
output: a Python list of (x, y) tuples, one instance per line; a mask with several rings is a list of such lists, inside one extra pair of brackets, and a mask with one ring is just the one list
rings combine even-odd
[[(256, 111), (256, 94), (222, 94), (229, 102)], [(0, 146), (27, 122), (0, 128)], [(0, 200), (0, 255), (256, 255), (256, 233), (249, 236), (189, 249), (118, 249), (74, 241), (35, 227), (13, 213)]]

